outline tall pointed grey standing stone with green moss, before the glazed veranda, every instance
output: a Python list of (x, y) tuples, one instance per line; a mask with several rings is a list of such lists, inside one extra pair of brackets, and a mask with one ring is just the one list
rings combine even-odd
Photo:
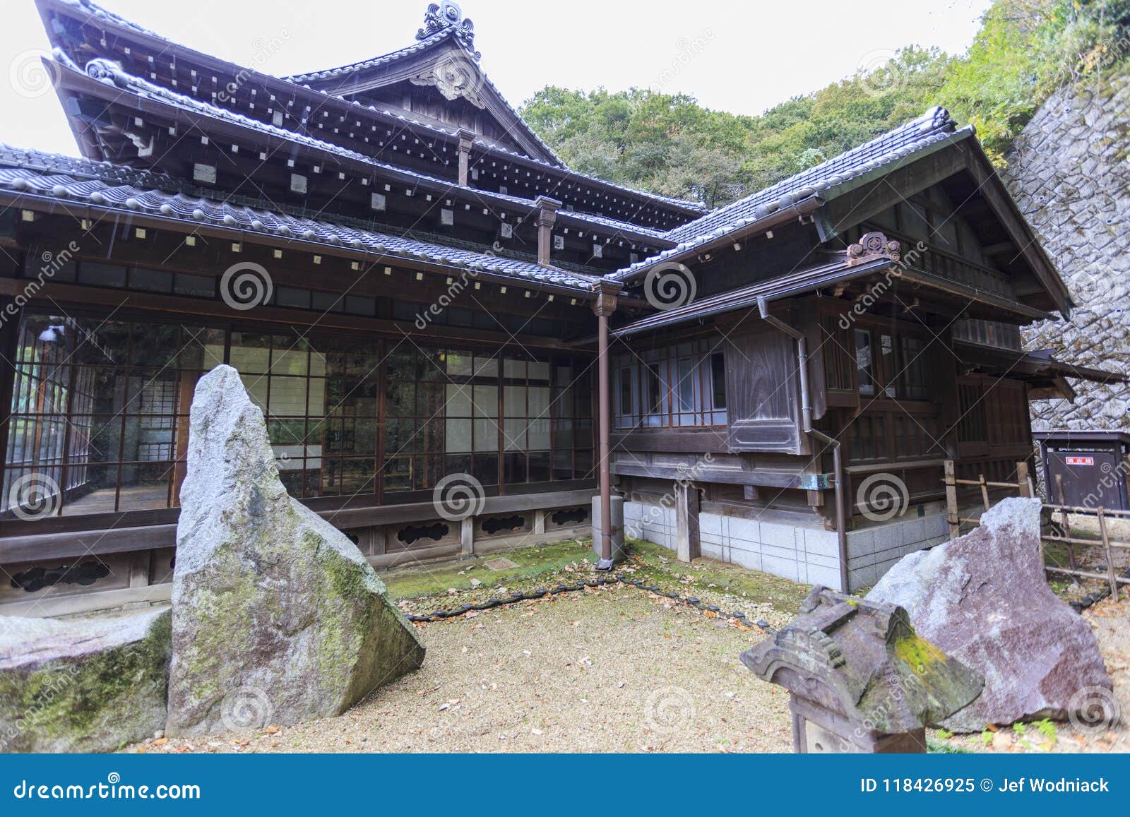
[(205, 375), (176, 529), (168, 732), (336, 715), (423, 660), (357, 547), (287, 495), (240, 374)]

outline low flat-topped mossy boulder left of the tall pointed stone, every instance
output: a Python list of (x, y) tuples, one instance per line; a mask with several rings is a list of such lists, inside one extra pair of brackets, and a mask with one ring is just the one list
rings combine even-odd
[(165, 725), (169, 611), (0, 617), (0, 750), (110, 751)]

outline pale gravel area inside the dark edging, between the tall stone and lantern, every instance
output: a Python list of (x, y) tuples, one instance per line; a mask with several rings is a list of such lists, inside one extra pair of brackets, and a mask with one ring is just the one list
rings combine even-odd
[(528, 601), (420, 632), (423, 669), (341, 716), (133, 748), (791, 750), (788, 696), (738, 660), (765, 636), (634, 588)]

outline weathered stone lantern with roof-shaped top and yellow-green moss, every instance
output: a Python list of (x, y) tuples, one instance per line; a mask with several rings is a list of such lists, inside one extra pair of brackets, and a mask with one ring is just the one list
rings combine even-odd
[(982, 679), (914, 634), (906, 611), (817, 585), (785, 627), (741, 654), (789, 690), (798, 753), (925, 751), (925, 727), (970, 704)]

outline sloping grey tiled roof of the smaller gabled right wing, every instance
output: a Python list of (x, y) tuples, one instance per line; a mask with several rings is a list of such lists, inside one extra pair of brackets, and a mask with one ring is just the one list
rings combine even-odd
[(814, 197), (827, 201), (859, 184), (889, 173), (902, 164), (972, 134), (972, 127), (958, 129), (945, 108), (933, 107), (918, 119), (851, 150), (758, 190), (702, 218), (668, 231), (664, 237), (679, 242), (678, 246), (619, 270), (612, 277), (627, 278), (668, 258), (721, 238), (798, 201)]

